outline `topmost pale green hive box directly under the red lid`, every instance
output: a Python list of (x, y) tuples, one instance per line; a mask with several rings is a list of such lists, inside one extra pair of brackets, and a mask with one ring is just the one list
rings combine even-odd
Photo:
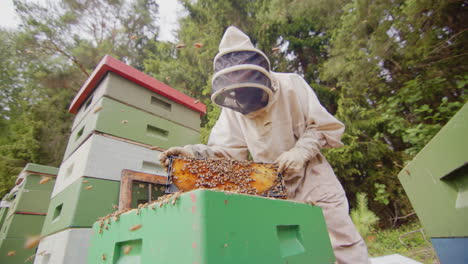
[(182, 126), (199, 131), (200, 113), (144, 88), (116, 73), (108, 72), (76, 113), (72, 130), (88, 112), (95, 109), (98, 100), (106, 96), (157, 115)]

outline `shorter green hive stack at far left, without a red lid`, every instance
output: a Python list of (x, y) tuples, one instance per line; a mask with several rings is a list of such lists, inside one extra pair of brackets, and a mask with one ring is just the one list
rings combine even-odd
[[(58, 169), (28, 164), (16, 180), (16, 186), (5, 197), (9, 208), (0, 229), (0, 263), (32, 263), (35, 248), (24, 249), (27, 236), (39, 235), (49, 206)], [(0, 215), (1, 217), (1, 215)]]

